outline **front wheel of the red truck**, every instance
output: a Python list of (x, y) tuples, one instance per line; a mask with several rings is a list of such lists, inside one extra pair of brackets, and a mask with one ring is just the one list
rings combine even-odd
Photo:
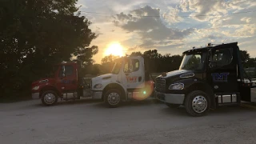
[(42, 94), (42, 104), (45, 106), (53, 106), (58, 102), (58, 95), (53, 90), (47, 90)]

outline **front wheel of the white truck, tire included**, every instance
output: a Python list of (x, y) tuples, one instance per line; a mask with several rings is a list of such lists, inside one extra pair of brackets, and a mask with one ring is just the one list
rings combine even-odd
[(118, 107), (121, 102), (121, 92), (117, 89), (107, 90), (104, 94), (104, 102), (111, 108)]

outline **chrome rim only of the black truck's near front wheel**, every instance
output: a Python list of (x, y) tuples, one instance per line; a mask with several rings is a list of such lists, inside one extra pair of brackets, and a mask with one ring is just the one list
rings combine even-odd
[(207, 100), (202, 95), (196, 96), (192, 101), (192, 108), (197, 113), (203, 113), (207, 108)]

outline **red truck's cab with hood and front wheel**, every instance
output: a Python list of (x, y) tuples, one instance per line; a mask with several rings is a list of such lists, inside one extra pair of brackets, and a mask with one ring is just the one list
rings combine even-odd
[(62, 62), (54, 65), (48, 78), (41, 78), (32, 83), (33, 99), (41, 99), (42, 104), (52, 106), (62, 100), (80, 99), (83, 96), (83, 85), (78, 73), (77, 62)]

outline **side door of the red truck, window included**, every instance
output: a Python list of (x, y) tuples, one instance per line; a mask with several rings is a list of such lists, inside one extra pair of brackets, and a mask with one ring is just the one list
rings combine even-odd
[(77, 68), (74, 65), (62, 65), (58, 73), (57, 84), (62, 92), (77, 90)]

